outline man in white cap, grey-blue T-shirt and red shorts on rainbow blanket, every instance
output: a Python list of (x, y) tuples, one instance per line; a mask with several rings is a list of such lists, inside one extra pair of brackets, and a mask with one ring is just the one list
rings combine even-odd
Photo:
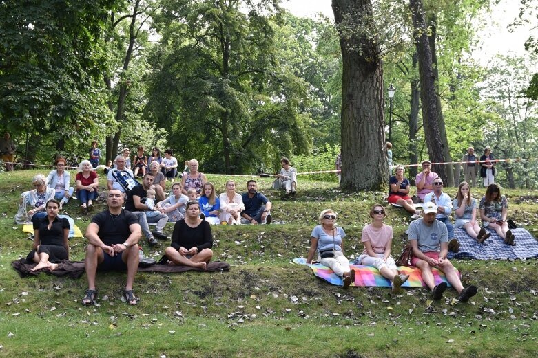
[(444, 272), (446, 280), (459, 293), (459, 302), (467, 302), (477, 293), (477, 287), (470, 285), (465, 288), (459, 280), (457, 270), (446, 258), (448, 254), (448, 232), (446, 225), (435, 219), (437, 205), (426, 202), (423, 206), (424, 217), (412, 221), (408, 230), (408, 241), (413, 249), (411, 266), (420, 269), (422, 280), (432, 291), (433, 299), (440, 300), (447, 288), (446, 282), (435, 284), (431, 267)]

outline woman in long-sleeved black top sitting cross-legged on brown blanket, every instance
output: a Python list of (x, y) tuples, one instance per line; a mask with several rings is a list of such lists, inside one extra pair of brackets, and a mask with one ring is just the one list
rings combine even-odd
[(213, 257), (211, 225), (200, 219), (200, 205), (187, 201), (185, 219), (177, 221), (172, 233), (172, 246), (165, 254), (173, 264), (205, 269)]

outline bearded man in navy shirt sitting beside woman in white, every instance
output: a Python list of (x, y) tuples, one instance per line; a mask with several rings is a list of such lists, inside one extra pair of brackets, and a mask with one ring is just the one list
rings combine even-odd
[(258, 184), (254, 180), (247, 182), (247, 192), (242, 194), (245, 210), (241, 212), (241, 223), (243, 224), (270, 224), (271, 208), (273, 204), (264, 194), (256, 191)]

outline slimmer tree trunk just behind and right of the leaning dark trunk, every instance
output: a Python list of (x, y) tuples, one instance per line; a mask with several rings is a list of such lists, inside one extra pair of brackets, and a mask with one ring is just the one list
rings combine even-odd
[[(446, 137), (446, 126), (444, 125), (444, 115), (441, 106), (441, 96), (439, 96), (439, 65), (437, 63), (437, 47), (435, 41), (437, 41), (437, 16), (431, 14), (429, 16), (428, 23), (430, 24), (431, 35), (429, 37), (430, 49), (431, 49), (431, 62), (433, 68), (433, 75), (437, 79), (435, 81), (435, 96), (437, 98), (437, 122), (439, 123), (439, 135), (441, 135), (442, 146), (444, 151), (444, 158), (446, 161), (452, 161), (450, 146), (448, 146), (448, 138)], [(459, 165), (459, 164), (457, 164)], [(454, 165), (445, 164), (446, 170), (446, 185), (458, 186), (459, 183), (455, 183), (454, 180)]]

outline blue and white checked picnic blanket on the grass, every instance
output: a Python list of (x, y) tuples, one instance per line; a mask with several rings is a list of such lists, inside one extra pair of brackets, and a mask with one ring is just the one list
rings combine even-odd
[(477, 260), (508, 260), (538, 257), (538, 240), (525, 229), (513, 229), (515, 246), (506, 245), (494, 230), (486, 229), (491, 236), (483, 244), (468, 236), (463, 229), (454, 228), (459, 241), (459, 252), (448, 251), (448, 258), (475, 258)]

